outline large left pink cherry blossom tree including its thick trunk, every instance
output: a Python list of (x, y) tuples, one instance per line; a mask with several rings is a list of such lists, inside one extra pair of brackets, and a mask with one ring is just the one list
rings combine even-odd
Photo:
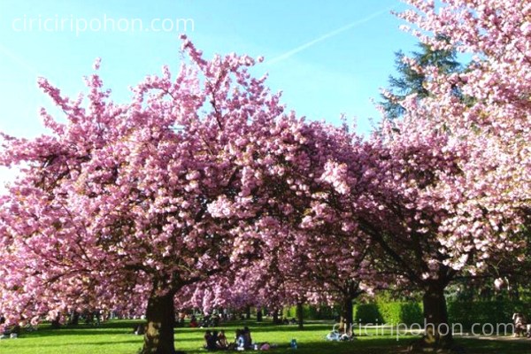
[(300, 224), (347, 147), (339, 129), (285, 114), (252, 58), (209, 61), (186, 37), (183, 50), (173, 80), (165, 67), (128, 104), (96, 73), (86, 105), (42, 79), (65, 123), (42, 110), (50, 135), (2, 135), (0, 163), (21, 171), (0, 209), (8, 322), (130, 309), (148, 320), (142, 352), (173, 353), (176, 294), (252, 265)]

